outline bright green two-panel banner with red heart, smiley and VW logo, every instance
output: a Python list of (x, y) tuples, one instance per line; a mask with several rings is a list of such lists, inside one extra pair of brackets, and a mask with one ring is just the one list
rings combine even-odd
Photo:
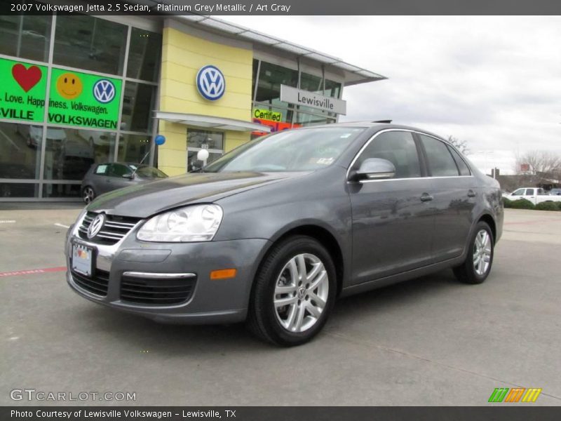
[[(42, 123), (45, 116), (45, 66), (0, 58), (0, 118)], [(47, 122), (117, 129), (121, 80), (53, 67)]]

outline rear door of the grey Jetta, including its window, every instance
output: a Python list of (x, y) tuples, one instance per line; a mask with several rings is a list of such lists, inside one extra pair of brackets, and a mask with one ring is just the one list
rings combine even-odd
[(431, 135), (418, 134), (433, 182), (435, 262), (455, 258), (464, 251), (478, 192), (475, 178), (460, 154)]

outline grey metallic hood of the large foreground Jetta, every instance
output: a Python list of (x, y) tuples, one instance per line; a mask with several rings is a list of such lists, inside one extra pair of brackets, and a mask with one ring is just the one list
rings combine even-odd
[(273, 182), (306, 173), (191, 173), (143, 182), (102, 194), (87, 210), (147, 218), (192, 203), (210, 203)]

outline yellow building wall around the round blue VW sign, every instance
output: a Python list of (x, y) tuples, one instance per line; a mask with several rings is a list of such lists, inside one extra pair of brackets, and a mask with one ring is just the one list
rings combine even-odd
[[(251, 121), (252, 60), (251, 50), (165, 27), (159, 109)], [(224, 74), (226, 91), (219, 100), (205, 100), (197, 91), (196, 74), (205, 65), (215, 65)], [(165, 144), (158, 147), (158, 168), (168, 175), (185, 173), (187, 126), (160, 121), (158, 133), (166, 138)], [(229, 151), (248, 142), (250, 133), (225, 131), (224, 138), (224, 149)]]

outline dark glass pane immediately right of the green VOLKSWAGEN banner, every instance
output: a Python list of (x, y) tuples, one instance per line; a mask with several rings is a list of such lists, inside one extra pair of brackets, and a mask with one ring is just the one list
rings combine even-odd
[(121, 130), (150, 131), (155, 92), (155, 86), (136, 82), (125, 83)]

